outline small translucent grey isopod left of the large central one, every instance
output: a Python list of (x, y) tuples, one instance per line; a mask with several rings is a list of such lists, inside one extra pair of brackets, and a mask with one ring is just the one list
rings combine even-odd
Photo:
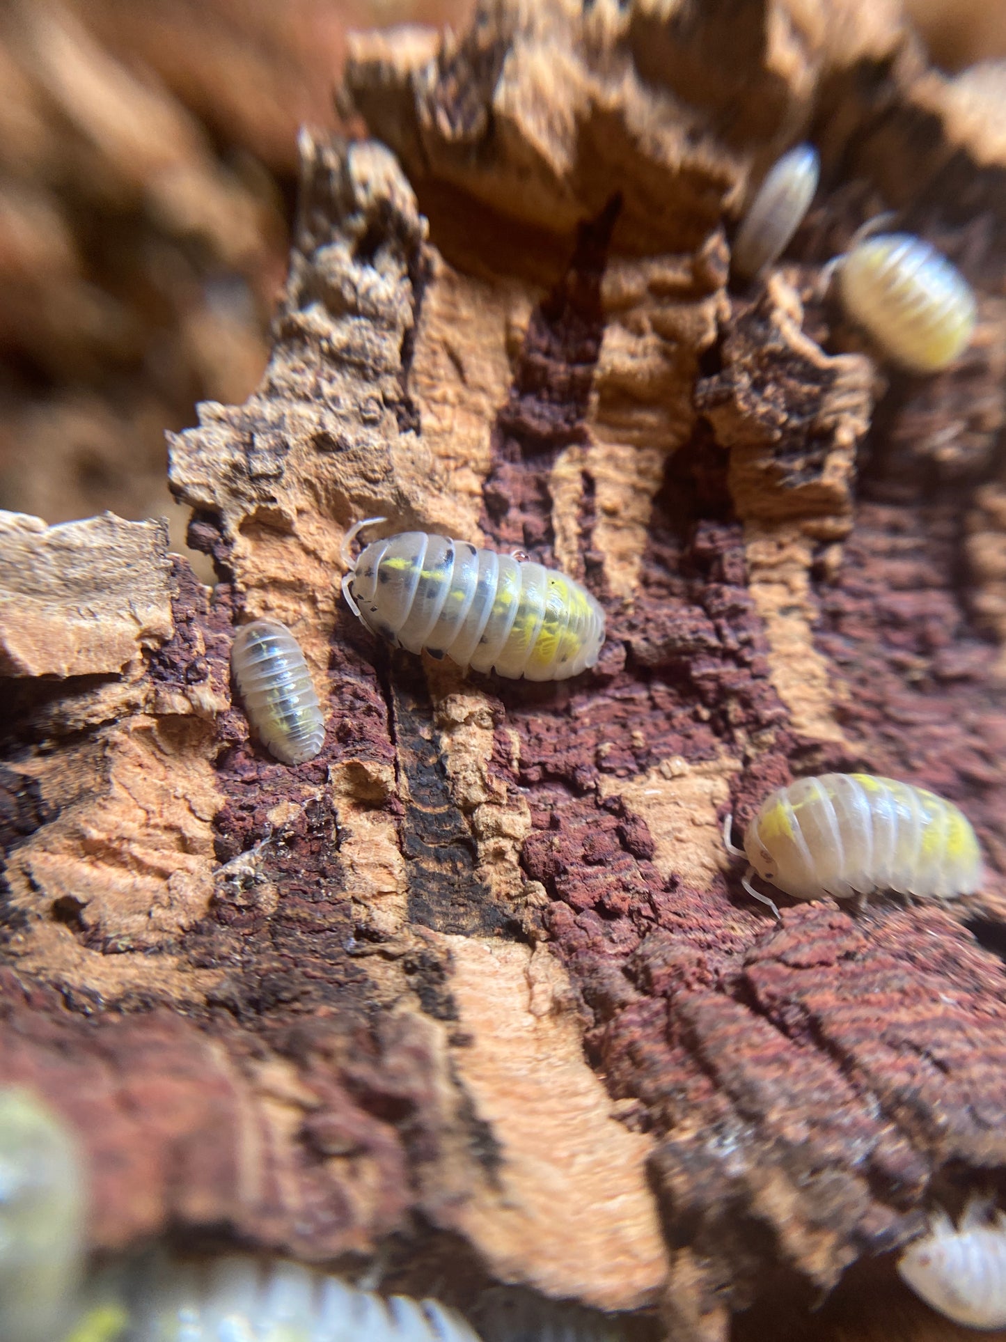
[(283, 764), (313, 760), (325, 718), (300, 644), (279, 620), (252, 620), (231, 646), (231, 670), (251, 725)]

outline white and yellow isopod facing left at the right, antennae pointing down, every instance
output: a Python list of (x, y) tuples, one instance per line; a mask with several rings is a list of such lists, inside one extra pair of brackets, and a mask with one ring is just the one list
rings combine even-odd
[(849, 899), (875, 890), (927, 899), (971, 895), (982, 883), (982, 852), (952, 803), (908, 782), (869, 773), (825, 773), (777, 788), (747, 827), (744, 847), (727, 848), (794, 899)]

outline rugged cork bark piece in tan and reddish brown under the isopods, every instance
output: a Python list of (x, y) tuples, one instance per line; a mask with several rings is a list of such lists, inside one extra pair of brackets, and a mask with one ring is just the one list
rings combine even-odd
[[(355, 39), (372, 138), (302, 133), (266, 374), (170, 439), (217, 586), (153, 523), (5, 522), (0, 1076), (79, 1129), (95, 1248), (378, 1255), (676, 1339), (939, 1331), (895, 1251), (1006, 1169), (1003, 95), (876, 0)], [(734, 287), (802, 136), (816, 205)], [(880, 208), (975, 286), (939, 376), (822, 275)], [(369, 515), (573, 573), (598, 666), (378, 644), (339, 597)], [(296, 769), (232, 698), (247, 616), (322, 691)], [(981, 894), (754, 906), (723, 817), (829, 769), (959, 803)]]

